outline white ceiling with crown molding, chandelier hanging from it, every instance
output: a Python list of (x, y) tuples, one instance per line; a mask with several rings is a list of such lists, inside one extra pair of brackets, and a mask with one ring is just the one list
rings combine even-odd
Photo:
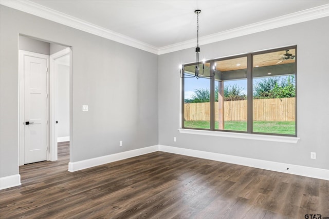
[[(47, 13), (54, 13), (67, 19), (75, 19), (101, 28), (103, 32), (109, 31), (135, 43), (144, 44), (155, 51), (184, 44), (186, 48), (190, 48), (193, 47), (192, 44), (196, 44), (196, 9), (202, 10), (199, 14), (200, 45), (209, 43), (209, 38), (214, 35), (231, 33), (232, 30), (244, 27), (264, 26), (269, 21), (281, 22), (280, 26), (285, 26), (298, 16), (299, 20), (293, 23), (302, 22), (305, 20), (301, 16), (306, 12), (307, 19), (318, 18), (314, 14), (311, 14), (313, 17), (310, 16), (309, 13), (314, 11), (321, 12), (322, 17), (329, 16), (329, 0), (19, 0), (15, 3), (1, 0), (1, 4), (9, 7), (21, 4), (20, 8), (16, 8), (23, 11), (22, 5), (28, 4), (29, 8), (25, 10), (28, 13), (45, 18), (48, 18)], [(29, 11), (32, 7), (34, 12)], [(36, 9), (47, 13), (38, 14)], [(275, 27), (278, 26), (266, 28)]]

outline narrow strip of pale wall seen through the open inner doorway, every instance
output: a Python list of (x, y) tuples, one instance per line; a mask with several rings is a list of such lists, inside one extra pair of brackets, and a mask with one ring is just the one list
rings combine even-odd
[(70, 67), (65, 65), (57, 66), (57, 134), (58, 137), (70, 136), (70, 91), (69, 91), (69, 79), (70, 79)]

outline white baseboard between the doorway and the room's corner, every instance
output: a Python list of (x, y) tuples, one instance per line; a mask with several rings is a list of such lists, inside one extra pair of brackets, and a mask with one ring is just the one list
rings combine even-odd
[(95, 157), (92, 159), (84, 160), (84, 161), (78, 161), (78, 162), (69, 162), (68, 163), (68, 171), (75, 172), (78, 170), (95, 167), (102, 164), (107, 164), (115, 161), (124, 160), (126, 158), (139, 156), (147, 153), (152, 153), (155, 151), (158, 151), (158, 145), (145, 147), (145, 148), (139, 148), (131, 151), (124, 151), (116, 154), (109, 154), (106, 156), (100, 156)]

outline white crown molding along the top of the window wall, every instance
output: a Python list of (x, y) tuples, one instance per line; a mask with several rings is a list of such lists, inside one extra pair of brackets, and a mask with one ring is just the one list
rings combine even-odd
[[(291, 14), (286, 14), (276, 18), (267, 19), (262, 22), (253, 23), (250, 25), (226, 30), (223, 32), (199, 37), (199, 45), (211, 44), (219, 41), (224, 41), (225, 39), (235, 38), (252, 33), (258, 33), (279, 27), (285, 27), (285, 26), (311, 21), (313, 19), (318, 19), (326, 16), (329, 16), (329, 4), (306, 9)], [(182, 49), (188, 49), (191, 47), (195, 47), (195, 39), (191, 39), (189, 41), (185, 41), (177, 44), (172, 44), (165, 47), (160, 47), (158, 48), (159, 49), (158, 54), (159, 55), (166, 54), (169, 52), (175, 52)]]

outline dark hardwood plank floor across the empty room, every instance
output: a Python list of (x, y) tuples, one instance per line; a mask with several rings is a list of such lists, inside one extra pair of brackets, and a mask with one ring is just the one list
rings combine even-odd
[(0, 218), (329, 217), (329, 181), (165, 152), (71, 173), (68, 147), (20, 167)]

